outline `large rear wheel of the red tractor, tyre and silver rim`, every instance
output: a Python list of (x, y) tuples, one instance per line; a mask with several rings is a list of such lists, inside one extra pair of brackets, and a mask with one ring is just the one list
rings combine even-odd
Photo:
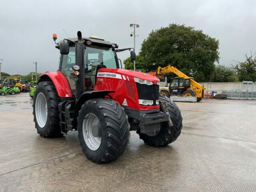
[[(40, 105), (40, 102), (42, 105)], [(40, 136), (56, 137), (62, 135), (58, 117), (59, 103), (60, 98), (52, 82), (38, 83), (34, 95), (33, 115), (36, 129)]]

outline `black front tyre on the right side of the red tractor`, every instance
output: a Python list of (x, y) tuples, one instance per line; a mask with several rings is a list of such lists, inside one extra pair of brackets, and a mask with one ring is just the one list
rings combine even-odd
[(154, 147), (165, 146), (174, 142), (178, 136), (180, 136), (182, 129), (182, 116), (176, 103), (170, 98), (162, 96), (159, 96), (159, 102), (166, 102), (173, 126), (170, 127), (168, 122), (162, 122), (161, 129), (155, 136), (148, 136), (146, 134), (140, 133), (140, 130), (137, 130), (140, 139), (142, 139), (145, 144)]

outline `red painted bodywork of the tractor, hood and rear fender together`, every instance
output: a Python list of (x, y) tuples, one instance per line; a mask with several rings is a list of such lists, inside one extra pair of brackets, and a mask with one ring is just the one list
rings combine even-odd
[[(62, 72), (47, 72), (42, 76), (47, 75), (52, 79), (58, 95), (60, 97), (73, 97), (70, 91), (68, 81)], [(151, 81), (153, 84), (157, 84), (159, 79), (146, 73), (124, 70), (124, 69), (112, 69), (101, 68), (98, 70), (94, 91), (96, 90), (114, 90), (114, 93), (110, 93), (110, 96), (116, 100), (121, 106), (126, 106), (136, 110), (152, 110), (154, 108), (159, 109), (157, 106), (143, 106), (138, 104), (138, 91), (134, 77), (141, 78), (147, 81)], [(127, 104), (124, 100), (126, 99)]]

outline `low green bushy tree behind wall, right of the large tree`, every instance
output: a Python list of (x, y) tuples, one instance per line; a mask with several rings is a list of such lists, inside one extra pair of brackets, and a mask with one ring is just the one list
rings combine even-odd
[(231, 67), (224, 65), (217, 65), (215, 67), (214, 76), (212, 82), (237, 82), (238, 77)]

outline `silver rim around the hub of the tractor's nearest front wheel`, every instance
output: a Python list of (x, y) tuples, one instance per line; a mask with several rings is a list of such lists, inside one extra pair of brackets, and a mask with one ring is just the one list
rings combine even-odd
[(88, 148), (92, 151), (96, 151), (101, 144), (101, 137), (95, 137), (92, 134), (92, 126), (95, 124), (100, 124), (100, 121), (98, 120), (96, 115), (94, 115), (93, 113), (86, 114), (86, 116), (84, 117), (82, 130), (84, 141)]

